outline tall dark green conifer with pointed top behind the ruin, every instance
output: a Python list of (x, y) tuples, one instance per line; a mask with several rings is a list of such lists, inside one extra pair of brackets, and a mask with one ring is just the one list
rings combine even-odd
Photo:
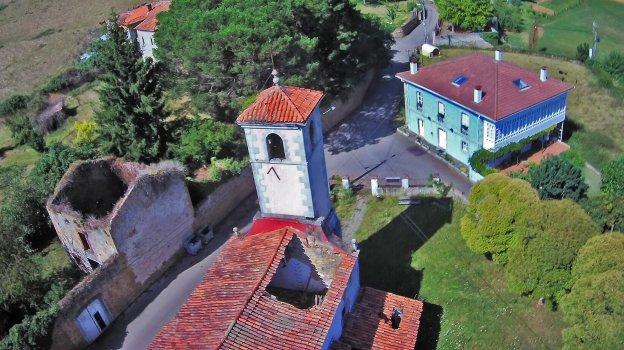
[(108, 40), (97, 60), (104, 73), (102, 108), (95, 116), (102, 151), (135, 161), (157, 161), (166, 151), (168, 137), (159, 82), (162, 67), (140, 59), (114, 18), (109, 20), (106, 34)]

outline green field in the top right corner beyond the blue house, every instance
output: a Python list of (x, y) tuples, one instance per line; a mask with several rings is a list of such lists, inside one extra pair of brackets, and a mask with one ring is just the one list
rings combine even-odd
[(549, 0), (540, 5), (555, 11), (554, 16), (525, 18), (525, 31), (508, 37), (511, 46), (528, 47), (528, 32), (534, 21), (543, 28), (535, 49), (545, 53), (574, 58), (576, 47), (592, 43), (592, 23), (598, 24), (601, 42), (598, 55), (624, 51), (624, 2), (619, 0)]

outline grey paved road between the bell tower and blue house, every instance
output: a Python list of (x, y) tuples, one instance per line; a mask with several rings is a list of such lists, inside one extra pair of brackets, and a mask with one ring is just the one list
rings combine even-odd
[(403, 85), (394, 75), (408, 69), (409, 53), (425, 42), (426, 34), (431, 42), (438, 13), (435, 6), (427, 9), (426, 23), (392, 46), (392, 62), (375, 78), (362, 106), (325, 137), (330, 176), (349, 176), (362, 184), (373, 176), (408, 176), (424, 184), (430, 174), (438, 173), (457, 190), (470, 191), (465, 176), (396, 132), (394, 117), (403, 101)]

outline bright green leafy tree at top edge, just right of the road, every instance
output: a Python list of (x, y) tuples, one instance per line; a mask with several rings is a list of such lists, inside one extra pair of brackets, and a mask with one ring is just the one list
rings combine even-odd
[(440, 18), (475, 31), (483, 30), (494, 12), (490, 0), (438, 0), (436, 4)]

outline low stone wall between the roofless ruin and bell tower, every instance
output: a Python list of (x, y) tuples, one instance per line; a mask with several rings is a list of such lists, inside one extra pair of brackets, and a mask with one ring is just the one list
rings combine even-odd
[(254, 191), (251, 168), (246, 167), (239, 176), (217, 187), (197, 205), (193, 229), (199, 231), (208, 225), (214, 227)]

